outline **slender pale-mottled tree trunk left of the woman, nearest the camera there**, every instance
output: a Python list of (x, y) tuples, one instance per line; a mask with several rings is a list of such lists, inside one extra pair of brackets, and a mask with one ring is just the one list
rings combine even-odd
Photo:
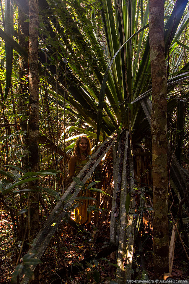
[[(32, 172), (39, 167), (39, 74), (38, 74), (38, 0), (29, 0), (29, 81), (30, 81), (30, 117), (29, 117), (29, 166)], [(30, 183), (35, 188), (38, 181)], [(31, 192), (28, 202), (29, 241), (38, 233), (39, 193)], [(33, 283), (38, 283), (38, 275)]]

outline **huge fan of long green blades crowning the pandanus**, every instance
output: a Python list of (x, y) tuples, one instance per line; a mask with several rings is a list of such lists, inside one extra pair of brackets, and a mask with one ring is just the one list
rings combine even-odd
[[(179, 42), (189, 20), (187, 13), (181, 21), (187, 2), (176, 1), (172, 12), (170, 5), (165, 9), (165, 52), (169, 62), (178, 45), (188, 50), (188, 46)], [(19, 4), (25, 5), (22, 0)], [(57, 73), (58, 104), (62, 106), (65, 98), (66, 105), (74, 107), (74, 110), (69, 108), (71, 114), (79, 115), (97, 130), (97, 136), (101, 133), (104, 138), (108, 137), (120, 125), (129, 128), (130, 119), (133, 141), (142, 141), (148, 124), (140, 102), (136, 101), (143, 94), (151, 94), (149, 1), (145, 12), (143, 1), (97, 1), (91, 9), (93, 4), (85, 6), (81, 1), (65, 4), (62, 1), (48, 3), (40, 0), (39, 7), (40, 72), (41, 75), (46, 74), (54, 90), (49, 91), (48, 98), (56, 101), (54, 78)], [(103, 32), (98, 32), (100, 20), (97, 17), (95, 23), (96, 11), (101, 14)], [(8, 41), (7, 34), (2, 30), (1, 37)], [(100, 44), (102, 40), (104, 45)], [(14, 48), (27, 57), (19, 46), (15, 44)], [(58, 67), (55, 64), (57, 57)], [(178, 59), (177, 65), (179, 62)], [(174, 72), (176, 68), (170, 69), (169, 64), (169, 111), (176, 107), (174, 94), (176, 97), (177, 94), (173, 91), (187, 78), (188, 63), (177, 73)], [(133, 101), (135, 103), (131, 106)]]

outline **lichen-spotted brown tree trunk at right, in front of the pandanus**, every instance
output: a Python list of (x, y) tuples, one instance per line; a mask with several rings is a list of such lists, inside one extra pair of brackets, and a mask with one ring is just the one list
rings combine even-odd
[(152, 77), (152, 178), (154, 278), (169, 272), (167, 192), (167, 78), (164, 48), (164, 0), (150, 0), (149, 42)]

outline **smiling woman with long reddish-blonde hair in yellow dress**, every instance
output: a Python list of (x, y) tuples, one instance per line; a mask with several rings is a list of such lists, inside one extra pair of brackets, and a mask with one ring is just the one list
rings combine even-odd
[[(82, 170), (84, 165), (88, 162), (89, 158), (92, 156), (91, 154), (91, 143), (89, 138), (85, 135), (80, 136), (77, 138), (75, 147), (74, 147), (74, 155), (71, 156), (69, 161), (69, 172), (70, 176), (74, 175), (75, 172), (79, 172)], [(90, 183), (87, 180), (86, 183)], [(82, 196), (82, 191), (79, 192), (78, 196)], [(85, 196), (90, 196), (91, 193), (86, 192)], [(76, 207), (75, 209), (75, 222), (79, 225), (86, 224), (87, 229), (90, 231), (92, 229), (91, 225), (91, 212), (88, 214), (87, 208), (88, 205), (93, 205), (93, 200), (82, 200), (82, 204)]]

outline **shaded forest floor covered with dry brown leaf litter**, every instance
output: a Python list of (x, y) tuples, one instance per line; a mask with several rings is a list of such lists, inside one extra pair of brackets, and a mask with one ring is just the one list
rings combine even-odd
[[(12, 235), (10, 215), (4, 207), (0, 206), (0, 283), (10, 284), (11, 275), (15, 265), (15, 243)], [(64, 224), (55, 238), (53, 238), (43, 255), (42, 263), (39, 265), (39, 283), (104, 283), (109, 284), (115, 278), (116, 260), (110, 259), (110, 255), (100, 260), (88, 262), (82, 267), (84, 258), (96, 255), (100, 250), (106, 249), (109, 243), (110, 224), (105, 223), (100, 230), (96, 243), (93, 242), (94, 234), (86, 236), (77, 233), (75, 229)], [(145, 236), (143, 236), (145, 238)], [(57, 242), (57, 240), (59, 240)], [(23, 252), (23, 255), (25, 253)], [(151, 238), (145, 242), (144, 256), (146, 271), (149, 279), (153, 279), (153, 251)], [(77, 264), (77, 265), (76, 265)], [(141, 275), (140, 269), (133, 265), (133, 279)], [(63, 270), (62, 282), (52, 282), (53, 274)], [(179, 280), (189, 280), (189, 263), (186, 259), (183, 247), (176, 243), (172, 277)], [(112, 284), (115, 282), (112, 282)]]

